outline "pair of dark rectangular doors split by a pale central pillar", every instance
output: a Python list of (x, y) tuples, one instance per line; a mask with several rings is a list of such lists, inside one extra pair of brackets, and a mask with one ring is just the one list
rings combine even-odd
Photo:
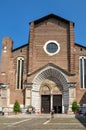
[(55, 113), (62, 113), (62, 95), (41, 95), (41, 112), (50, 113), (52, 108)]

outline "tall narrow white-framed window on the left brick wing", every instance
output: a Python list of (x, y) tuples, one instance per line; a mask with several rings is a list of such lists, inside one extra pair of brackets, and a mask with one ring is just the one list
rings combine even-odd
[(24, 58), (17, 58), (17, 89), (23, 89)]

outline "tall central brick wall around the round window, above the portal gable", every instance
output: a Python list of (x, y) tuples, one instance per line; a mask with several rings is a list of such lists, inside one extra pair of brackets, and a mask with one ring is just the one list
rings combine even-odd
[[(54, 56), (45, 53), (43, 46), (49, 40), (60, 44), (60, 51)], [(56, 64), (68, 71), (69, 24), (60, 20), (48, 19), (44, 22), (31, 24), (29, 72), (32, 72), (48, 63)]]

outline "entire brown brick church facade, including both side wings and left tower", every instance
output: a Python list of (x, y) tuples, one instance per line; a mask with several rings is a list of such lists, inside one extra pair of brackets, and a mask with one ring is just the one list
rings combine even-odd
[[(60, 44), (60, 51), (56, 55), (49, 56), (45, 53), (43, 47), (49, 40), (55, 40)], [(70, 72), (75, 73), (75, 76), (67, 76), (69, 82), (76, 82), (76, 98), (77, 101), (83, 99), (86, 89), (80, 88), (79, 75), (79, 56), (86, 56), (86, 49), (74, 44), (74, 27), (73, 23), (61, 21), (60, 19), (50, 18), (43, 22), (31, 23), (29, 46), (24, 46), (12, 51), (12, 40), (5, 38), (3, 45), (8, 46), (7, 53), (2, 52), (2, 66), (6, 72), (6, 77), (2, 77), (0, 73), (0, 82), (8, 82), (11, 90), (10, 104), (14, 104), (18, 100), (21, 104), (24, 103), (24, 95), (22, 90), (16, 90), (16, 68), (17, 57), (24, 57), (24, 77), (23, 83), (28, 79), (32, 82), (37, 74), (27, 77), (27, 73), (34, 72), (39, 68), (53, 63), (56, 66)], [(3, 46), (2, 46), (3, 47)], [(29, 50), (28, 50), (29, 49)], [(27, 70), (28, 68), (28, 70)]]

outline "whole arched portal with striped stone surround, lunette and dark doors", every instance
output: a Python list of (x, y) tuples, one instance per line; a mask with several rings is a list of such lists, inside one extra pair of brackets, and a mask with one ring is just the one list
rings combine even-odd
[[(52, 107), (55, 109), (58, 107), (62, 112), (64, 106), (69, 105), (68, 97), (67, 79), (59, 69), (48, 66), (35, 76), (32, 86), (32, 105), (36, 109), (42, 112), (43, 103), (45, 102), (44, 106), (48, 111), (44, 112), (49, 112)], [(46, 102), (47, 100), (49, 101)]]

